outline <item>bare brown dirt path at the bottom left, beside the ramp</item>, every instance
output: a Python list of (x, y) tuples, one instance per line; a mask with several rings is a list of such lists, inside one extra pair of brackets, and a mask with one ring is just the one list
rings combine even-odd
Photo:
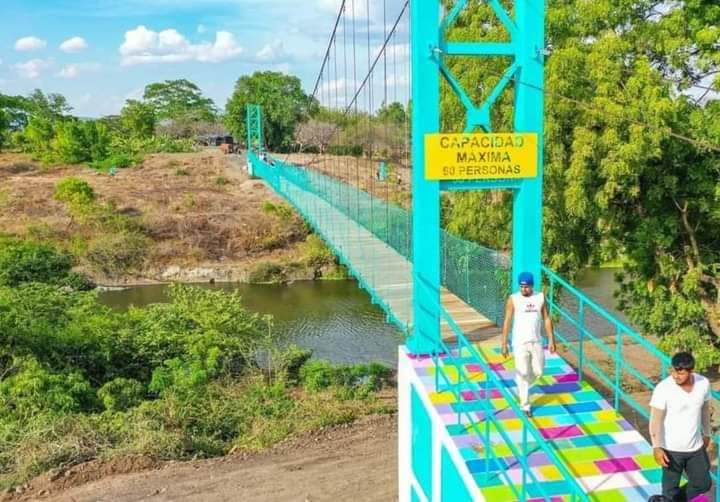
[[(139, 465), (142, 465), (140, 462)], [(147, 468), (147, 465), (145, 465)], [(78, 466), (74, 469), (82, 468)], [(82, 471), (82, 469), (80, 469)], [(376, 416), (317, 432), (243, 458), (170, 462), (156, 470), (109, 475), (107, 464), (42, 478), (15, 500), (53, 502), (390, 501), (397, 499), (397, 421)], [(78, 472), (79, 474), (79, 472)], [(105, 476), (105, 477), (103, 477)], [(68, 486), (69, 485), (69, 486)]]

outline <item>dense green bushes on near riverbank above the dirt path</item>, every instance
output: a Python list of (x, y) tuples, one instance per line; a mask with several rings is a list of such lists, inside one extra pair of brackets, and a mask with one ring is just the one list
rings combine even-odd
[(140, 454), (212, 457), (394, 411), (390, 370), (287, 346), (237, 294), (171, 288), (119, 313), (54, 248), (0, 246), (0, 487)]

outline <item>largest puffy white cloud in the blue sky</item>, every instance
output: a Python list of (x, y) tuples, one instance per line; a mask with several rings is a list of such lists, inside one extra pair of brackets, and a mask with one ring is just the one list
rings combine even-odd
[(175, 29), (156, 32), (145, 26), (126, 32), (125, 42), (120, 46), (123, 65), (183, 61), (219, 63), (237, 58), (242, 52), (235, 35), (227, 31), (218, 31), (214, 42), (192, 44)]

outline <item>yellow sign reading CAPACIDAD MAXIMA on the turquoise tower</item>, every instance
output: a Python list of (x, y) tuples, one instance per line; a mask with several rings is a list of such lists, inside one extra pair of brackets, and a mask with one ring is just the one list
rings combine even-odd
[(537, 134), (426, 134), (425, 178), (483, 180), (537, 176)]

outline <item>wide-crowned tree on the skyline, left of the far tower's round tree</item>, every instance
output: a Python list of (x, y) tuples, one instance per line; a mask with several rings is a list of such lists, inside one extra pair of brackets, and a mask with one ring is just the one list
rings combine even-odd
[(150, 84), (145, 87), (143, 99), (160, 120), (213, 121), (217, 115), (212, 99), (204, 97), (197, 85), (185, 79)]

